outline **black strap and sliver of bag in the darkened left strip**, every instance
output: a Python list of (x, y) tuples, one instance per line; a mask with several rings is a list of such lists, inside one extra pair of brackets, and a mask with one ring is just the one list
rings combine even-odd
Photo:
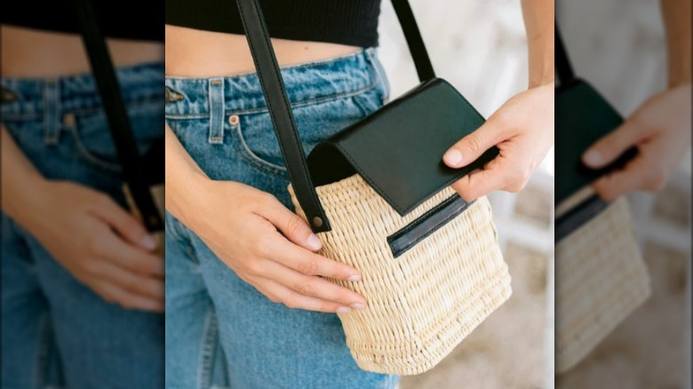
[(163, 135), (145, 155), (139, 155), (137, 141), (120, 95), (116, 70), (108, 55), (106, 40), (100, 31), (92, 2), (77, 0), (75, 10), (108, 119), (108, 130), (116, 145), (118, 161), (123, 170), (123, 197), (131, 213), (155, 236), (158, 253), (163, 255)]

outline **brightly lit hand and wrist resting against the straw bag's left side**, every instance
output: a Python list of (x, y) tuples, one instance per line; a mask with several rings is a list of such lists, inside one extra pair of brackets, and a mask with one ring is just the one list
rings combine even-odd
[(357, 282), (361, 274), (316, 254), (322, 243), (302, 218), (272, 194), (207, 178), (169, 128), (166, 183), (166, 209), (273, 302), (331, 313), (365, 307), (365, 298), (321, 277)]

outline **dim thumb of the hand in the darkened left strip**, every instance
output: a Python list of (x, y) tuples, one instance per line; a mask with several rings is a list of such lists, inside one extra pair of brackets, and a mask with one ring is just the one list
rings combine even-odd
[(94, 212), (106, 223), (113, 227), (127, 242), (145, 250), (155, 250), (158, 243), (153, 236), (147, 233), (147, 229), (126, 210), (114, 202), (108, 195), (99, 202)]

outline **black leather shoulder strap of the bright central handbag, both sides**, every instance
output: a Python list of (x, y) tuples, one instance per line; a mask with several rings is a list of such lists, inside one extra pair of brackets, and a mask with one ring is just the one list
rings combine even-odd
[[(284, 88), (282, 73), (275, 58), (259, 2), (258, 0), (236, 0), (236, 5), (241, 15), (245, 36), (251, 47), (252, 59), (267, 100), (267, 108), (277, 139), (279, 139), (279, 146), (282, 149), (294, 193), (313, 231), (315, 233), (330, 231), (330, 222), (310, 178), (306, 155), (291, 113), (291, 103)], [(423, 83), (434, 78), (434, 68), (428, 58), (426, 45), (409, 3), (407, 0), (393, 0), (393, 5), (417, 68), (419, 81)]]

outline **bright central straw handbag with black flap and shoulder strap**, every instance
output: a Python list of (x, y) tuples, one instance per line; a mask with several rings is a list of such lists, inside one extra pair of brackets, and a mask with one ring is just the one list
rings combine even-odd
[(256, 0), (237, 0), (296, 209), (321, 254), (359, 269), (331, 280), (368, 300), (339, 314), (362, 368), (412, 375), (431, 369), (511, 294), (486, 198), (465, 202), (450, 184), (498, 155), (454, 170), (442, 154), (483, 123), (435, 78), (406, 0), (394, 0), (418, 87), (319, 144), (306, 158)]

